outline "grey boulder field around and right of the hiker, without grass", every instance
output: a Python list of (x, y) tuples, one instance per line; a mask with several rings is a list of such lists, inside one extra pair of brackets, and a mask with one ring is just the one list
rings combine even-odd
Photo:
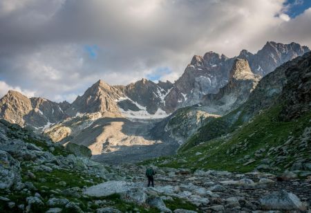
[[(145, 167), (120, 166), (127, 181), (108, 181), (88, 187), (88, 196), (121, 194), (124, 201), (154, 205), (171, 212), (163, 201), (178, 198), (196, 207), (198, 212), (261, 212), (264, 210), (307, 211), (310, 207), (311, 178), (299, 180), (290, 172), (283, 181), (272, 174), (251, 172), (234, 174), (225, 171), (156, 168), (156, 187), (146, 187)], [(174, 210), (174, 212), (187, 212)]]

